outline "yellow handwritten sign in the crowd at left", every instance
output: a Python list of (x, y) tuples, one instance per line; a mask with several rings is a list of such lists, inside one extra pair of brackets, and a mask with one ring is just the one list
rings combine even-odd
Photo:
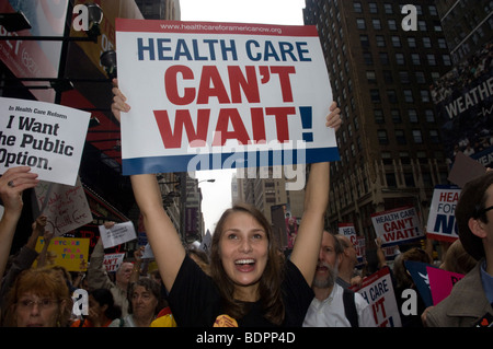
[[(42, 252), (45, 240), (38, 237), (36, 252)], [(62, 266), (68, 271), (87, 270), (89, 239), (54, 237), (47, 249), (47, 266)], [(35, 263), (37, 265), (37, 263)]]

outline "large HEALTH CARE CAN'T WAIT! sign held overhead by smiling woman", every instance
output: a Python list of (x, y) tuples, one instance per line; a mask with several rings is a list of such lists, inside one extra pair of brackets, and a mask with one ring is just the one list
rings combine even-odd
[(314, 26), (116, 21), (124, 174), (339, 160)]

